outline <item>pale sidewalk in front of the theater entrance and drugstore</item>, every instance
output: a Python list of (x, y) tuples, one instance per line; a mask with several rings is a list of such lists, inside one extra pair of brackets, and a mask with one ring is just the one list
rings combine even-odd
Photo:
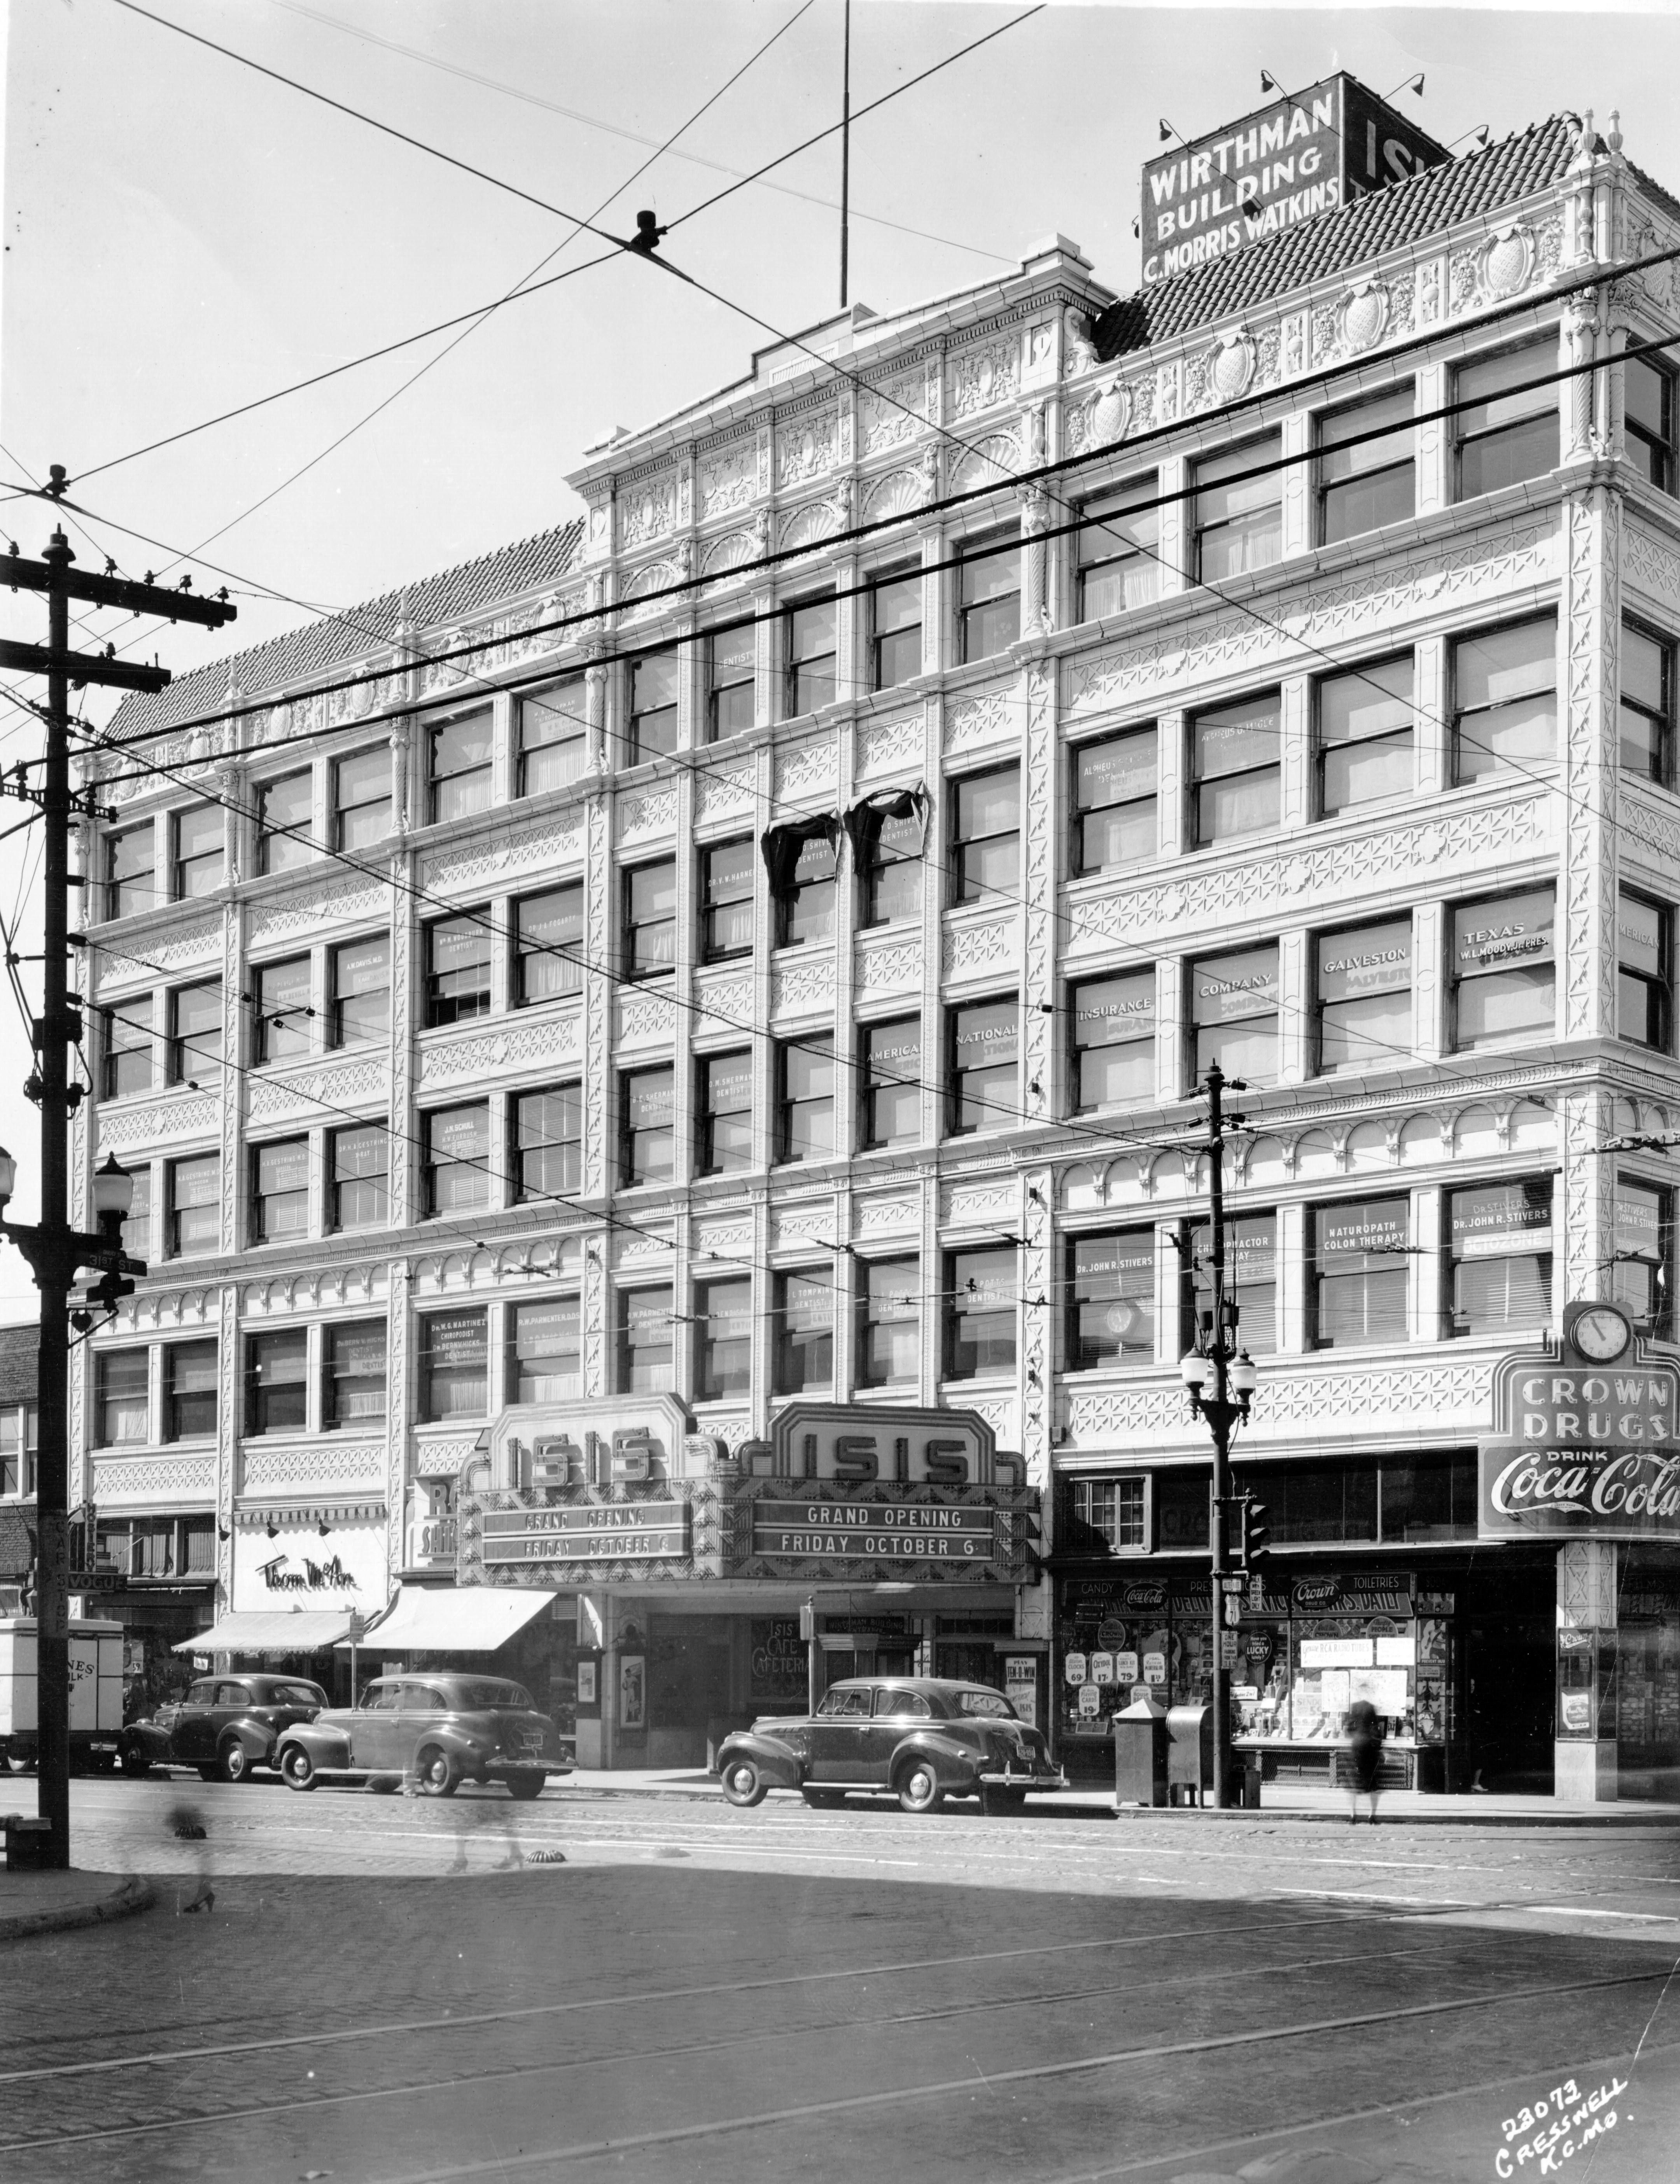
[[(553, 1778), (551, 1778), (553, 1782)], [(590, 1797), (721, 1797), (717, 1776), (693, 1767), (579, 1767), (577, 1773), (553, 1782), (555, 1789), (583, 1793)], [(885, 1795), (885, 1793), (883, 1793)], [(791, 1800), (791, 1791), (771, 1791), (771, 1797)], [(957, 1806), (963, 1811), (963, 1806)], [(1348, 1793), (1333, 1789), (1302, 1789), (1300, 1784), (1267, 1782), (1256, 1811), (1215, 1811), (1212, 1806), (1127, 1806), (1114, 1813), (1114, 1793), (1099, 1784), (1046, 1791), (1027, 1804), (1033, 1813), (1064, 1813), (1070, 1819), (1175, 1819), (1175, 1821), (1267, 1821), (1304, 1819), (1348, 1826)], [(1560, 1804), (1555, 1797), (1503, 1797), (1503, 1795), (1431, 1795), (1418, 1791), (1389, 1791), (1381, 1800), (1379, 1826), (1420, 1828), (1680, 1828), (1680, 1804), (1654, 1804), (1649, 1800), (1625, 1800), (1614, 1804)], [(1365, 1826), (1361, 1821), (1361, 1826)]]

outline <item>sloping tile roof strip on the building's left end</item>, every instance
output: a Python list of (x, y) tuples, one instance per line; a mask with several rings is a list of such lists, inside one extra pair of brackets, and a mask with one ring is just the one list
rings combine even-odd
[(581, 520), (559, 524), (513, 546), (498, 546), (476, 561), (461, 561), (439, 577), (424, 577), (400, 592), (384, 592), (360, 607), (306, 622), (304, 629), (288, 629), (280, 638), (181, 675), (157, 697), (125, 699), (109, 732), (116, 738), (153, 736), (177, 721), (214, 712), (227, 697), (229, 684), (262, 697), (269, 690), (312, 681), (345, 662), (365, 660), (391, 642), (400, 620), (413, 622), (415, 629), (441, 629), (485, 607), (522, 598), (564, 577), (577, 561), (581, 542)]

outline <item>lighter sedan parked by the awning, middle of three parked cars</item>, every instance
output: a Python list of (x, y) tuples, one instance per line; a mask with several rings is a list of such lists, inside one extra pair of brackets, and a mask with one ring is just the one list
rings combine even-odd
[(505, 1782), (509, 1795), (535, 1797), (551, 1773), (572, 1771), (522, 1684), (454, 1671), (382, 1675), (360, 1706), (332, 1706), (286, 1730), (277, 1765), (288, 1789), (323, 1778), (395, 1789), (409, 1776), (428, 1797), (452, 1797), (461, 1782)]

